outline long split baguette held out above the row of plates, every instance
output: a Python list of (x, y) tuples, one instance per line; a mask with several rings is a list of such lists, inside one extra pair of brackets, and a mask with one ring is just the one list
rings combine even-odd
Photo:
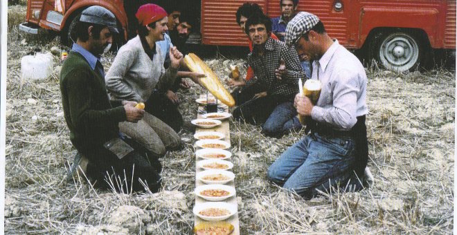
[(219, 81), (217, 75), (194, 53), (189, 53), (184, 57), (184, 62), (192, 72), (203, 73), (206, 77), (201, 77), (201, 85), (211, 94), (227, 106), (235, 105), (235, 100), (226, 88)]

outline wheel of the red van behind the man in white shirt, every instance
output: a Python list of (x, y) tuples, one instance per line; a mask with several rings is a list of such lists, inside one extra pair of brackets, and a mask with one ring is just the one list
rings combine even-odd
[(384, 68), (410, 71), (418, 68), (424, 57), (424, 46), (415, 35), (406, 32), (383, 34), (375, 39), (370, 54)]

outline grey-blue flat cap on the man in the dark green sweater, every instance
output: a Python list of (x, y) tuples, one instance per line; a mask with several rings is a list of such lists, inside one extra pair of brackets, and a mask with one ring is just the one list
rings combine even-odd
[(107, 26), (109, 31), (119, 33), (116, 17), (107, 8), (101, 6), (91, 6), (83, 10), (80, 21), (101, 24), (102, 26)]

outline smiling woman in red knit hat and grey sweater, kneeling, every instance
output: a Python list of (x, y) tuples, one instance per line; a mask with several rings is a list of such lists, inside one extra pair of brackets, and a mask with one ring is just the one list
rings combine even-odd
[[(175, 47), (165, 52), (156, 46), (156, 41), (163, 40), (168, 30), (167, 16), (167, 12), (155, 4), (145, 4), (138, 9), (138, 36), (118, 50), (105, 77), (111, 99), (146, 102), (154, 88), (166, 88), (174, 83), (183, 55)], [(166, 70), (161, 53), (170, 55), (171, 64)], [(161, 158), (167, 150), (181, 147), (179, 135), (147, 112), (137, 123), (120, 122), (119, 129), (143, 144), (154, 157)]]

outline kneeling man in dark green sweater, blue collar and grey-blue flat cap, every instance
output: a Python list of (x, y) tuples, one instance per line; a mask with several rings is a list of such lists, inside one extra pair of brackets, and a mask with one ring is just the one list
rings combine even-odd
[(87, 8), (75, 25), (76, 41), (62, 66), (62, 106), (71, 143), (78, 150), (72, 173), (81, 162), (86, 176), (101, 187), (129, 193), (147, 185), (158, 191), (160, 162), (147, 161), (147, 151), (118, 128), (119, 122), (138, 122), (144, 111), (135, 107), (136, 102), (110, 101), (105, 88), (100, 55), (113, 33), (118, 33), (113, 13), (100, 6)]

